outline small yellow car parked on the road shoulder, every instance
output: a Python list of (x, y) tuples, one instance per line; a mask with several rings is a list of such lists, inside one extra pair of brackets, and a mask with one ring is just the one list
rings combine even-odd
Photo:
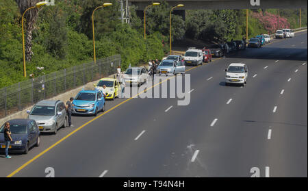
[(104, 77), (94, 84), (94, 88), (98, 90), (103, 90), (103, 85), (106, 86), (104, 92), (107, 92), (107, 97), (105, 99), (112, 99), (114, 100), (119, 95), (119, 88), (120, 84), (118, 83), (117, 79)]

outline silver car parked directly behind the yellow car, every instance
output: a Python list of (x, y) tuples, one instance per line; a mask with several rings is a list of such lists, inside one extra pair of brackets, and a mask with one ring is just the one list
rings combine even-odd
[(149, 77), (149, 73), (147, 73), (145, 68), (142, 67), (132, 67), (127, 68), (123, 75), (123, 79), (125, 81), (125, 85), (137, 85), (145, 84)]

